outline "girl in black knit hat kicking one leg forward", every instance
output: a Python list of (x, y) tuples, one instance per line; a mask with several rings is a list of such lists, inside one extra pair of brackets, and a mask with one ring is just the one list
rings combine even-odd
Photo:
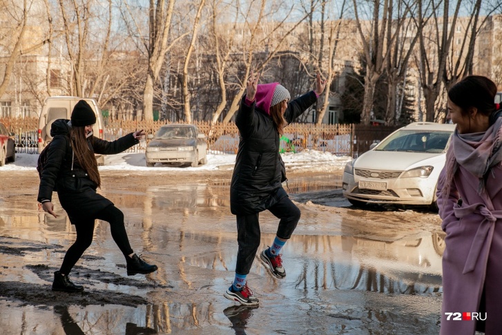
[(93, 136), (95, 123), (93, 109), (86, 101), (80, 100), (73, 108), (71, 120), (57, 119), (50, 128), (52, 142), (41, 171), (38, 201), (44, 211), (57, 218), (52, 204), (52, 191), (56, 187), (61, 207), (66, 210), (77, 231), (77, 240), (66, 252), (59, 271), (54, 274), (52, 291), (84, 290), (81, 285), (75, 285), (68, 274), (93, 242), (96, 219), (110, 222), (113, 240), (126, 258), (128, 276), (149, 274), (157, 270), (156, 265), (148, 264), (131, 249), (122, 211), (113, 202), (96, 193), (97, 187), (101, 186), (101, 178), (95, 153), (121, 153), (139, 143), (144, 131), (135, 131), (108, 142)]

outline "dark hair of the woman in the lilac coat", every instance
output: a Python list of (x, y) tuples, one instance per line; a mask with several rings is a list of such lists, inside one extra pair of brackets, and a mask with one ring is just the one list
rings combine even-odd
[(481, 115), (490, 116), (496, 111), (495, 95), (496, 84), (481, 75), (467, 76), (448, 90), (448, 97), (461, 108), (463, 116), (467, 116), (472, 107)]

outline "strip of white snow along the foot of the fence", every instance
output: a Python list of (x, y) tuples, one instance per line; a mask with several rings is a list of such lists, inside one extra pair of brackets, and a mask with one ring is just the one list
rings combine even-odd
[[(332, 153), (305, 150), (300, 153), (282, 153), (282, 160), (289, 171), (340, 171), (351, 160), (349, 156), (338, 157)], [(0, 167), (0, 171), (22, 171), (35, 169), (39, 155), (18, 153), (16, 162)], [(119, 153), (106, 156), (105, 165), (99, 166), (100, 171), (128, 170), (128, 171), (207, 171), (218, 169), (233, 169), (235, 155), (207, 155), (207, 164), (193, 167), (155, 166), (146, 167), (144, 153)]]

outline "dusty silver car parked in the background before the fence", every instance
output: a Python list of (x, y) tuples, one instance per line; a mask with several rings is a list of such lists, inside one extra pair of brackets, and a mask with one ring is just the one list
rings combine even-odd
[(148, 135), (151, 141), (146, 145), (146, 166), (154, 166), (155, 163), (191, 164), (192, 167), (206, 164), (205, 137), (193, 124), (162, 126), (155, 135)]

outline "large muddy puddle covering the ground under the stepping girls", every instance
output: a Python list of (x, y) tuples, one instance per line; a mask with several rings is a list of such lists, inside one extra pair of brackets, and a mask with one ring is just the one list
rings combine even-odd
[[(339, 180), (296, 178), (289, 193), (339, 186)], [(103, 193), (124, 211), (133, 249), (160, 269), (127, 277), (108, 224), (98, 221), (93, 245), (72, 272), (75, 283), (86, 287), (77, 297), (50, 291), (52, 272), (75, 240), (64, 211), (57, 209), (56, 219), (37, 211), (26, 194), (3, 198), (2, 334), (296, 334), (299, 327), (309, 334), (438, 331), (441, 233), (392, 237), (389, 231), (357, 227), (351, 216), (307, 207), (282, 251), (287, 278), (271, 277), (257, 258), (248, 280), (262, 307), (242, 308), (222, 296), (233, 279), (237, 251), (229, 184), (127, 188), (108, 186)], [(269, 213), (260, 214), (260, 221), (265, 247), (278, 221)]]

